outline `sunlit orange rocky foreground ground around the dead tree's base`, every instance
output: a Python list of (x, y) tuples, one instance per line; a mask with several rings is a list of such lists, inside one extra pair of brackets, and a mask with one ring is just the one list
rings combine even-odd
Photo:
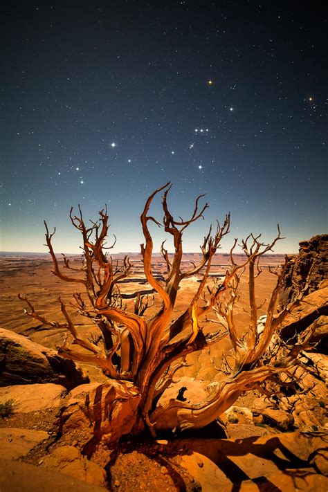
[[(189, 388), (185, 397), (201, 398), (205, 390), (199, 381), (183, 377), (171, 392), (183, 383)], [(104, 384), (94, 381), (73, 390), (55, 383), (0, 388), (0, 403), (12, 401), (0, 419), (1, 492), (21, 490), (21, 480), (31, 492), (49, 489), (49, 484), (55, 491), (75, 486), (126, 492), (328, 487), (325, 394), (312, 394), (302, 414), (281, 410), (275, 399), (248, 392), (211, 428), (162, 436), (160, 441), (128, 433), (107, 445), (93, 441), (93, 426), (80, 412), (84, 395), (90, 394), (92, 401), (93, 392)], [(321, 389), (319, 384), (316, 391)], [(122, 413), (127, 415), (126, 408), (120, 408)]]

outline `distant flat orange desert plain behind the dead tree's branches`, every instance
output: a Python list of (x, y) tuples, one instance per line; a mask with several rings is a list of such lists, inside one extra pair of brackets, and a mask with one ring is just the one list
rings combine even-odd
[[(117, 255), (118, 261), (122, 259), (121, 255)], [(183, 257), (182, 268), (192, 268), (191, 262), (199, 260), (199, 255), (185, 255)], [(243, 257), (236, 257), (237, 262), (242, 262)], [(261, 316), (266, 312), (268, 299), (270, 298), (273, 287), (275, 286), (276, 277), (268, 271), (268, 265), (277, 266), (284, 262), (283, 255), (268, 255), (262, 261), (262, 273), (257, 277), (257, 302), (261, 306), (258, 315)], [(151, 291), (151, 287), (145, 280), (143, 273), (143, 264), (140, 255), (132, 255), (131, 263), (134, 264), (131, 274), (127, 282), (120, 284), (120, 291), (123, 294), (131, 295), (138, 290)], [(226, 266), (228, 265), (227, 255), (216, 255), (211, 268), (212, 275), (224, 275)], [(74, 268), (80, 266), (80, 259), (73, 257), (71, 266)], [(64, 329), (56, 329), (50, 327), (42, 327), (37, 320), (30, 318), (24, 314), (24, 309), (27, 307), (25, 302), (18, 298), (18, 294), (27, 295), (28, 299), (35, 306), (38, 313), (46, 316), (49, 321), (63, 322), (62, 313), (58, 303), (58, 297), (69, 306), (72, 299), (74, 289), (80, 288), (78, 284), (70, 284), (59, 280), (51, 270), (53, 264), (50, 257), (44, 256), (0, 256), (0, 326), (4, 329), (11, 329), (18, 334), (24, 334), (34, 342), (45, 345), (48, 348), (55, 349), (61, 344), (64, 336)], [(165, 274), (165, 264), (161, 257), (155, 257), (153, 263), (154, 273), (156, 275)], [(65, 271), (67, 273), (67, 270)], [(70, 274), (72, 272), (69, 272)], [(73, 272), (74, 273), (74, 272)], [(194, 295), (201, 275), (190, 277), (181, 282), (176, 306), (174, 309), (173, 318), (179, 316), (183, 310), (188, 307), (192, 296)], [(125, 300), (128, 307), (133, 306), (133, 299)], [(154, 307), (149, 310), (149, 315), (152, 314), (158, 307), (158, 300), (155, 298)], [(240, 298), (235, 307), (235, 322), (240, 330), (246, 329), (248, 326), (248, 284), (246, 272), (242, 277)], [(98, 327), (93, 325), (90, 320), (75, 313), (71, 308), (72, 318), (78, 326), (80, 333), (84, 336), (90, 334), (98, 334)], [(148, 313), (148, 311), (147, 311)], [(212, 318), (215, 318), (212, 317)], [(214, 322), (206, 322), (199, 320), (205, 331), (217, 330), (218, 325)], [(184, 375), (197, 377), (203, 381), (215, 381), (217, 371), (215, 365), (219, 365), (221, 354), (226, 353), (230, 347), (228, 339), (222, 340), (214, 345), (211, 349), (210, 357), (208, 352), (196, 353), (188, 356), (188, 368), (183, 370)], [(212, 359), (212, 363), (210, 362)], [(214, 363), (214, 364), (213, 364)], [(88, 367), (89, 372), (95, 374), (95, 367)]]

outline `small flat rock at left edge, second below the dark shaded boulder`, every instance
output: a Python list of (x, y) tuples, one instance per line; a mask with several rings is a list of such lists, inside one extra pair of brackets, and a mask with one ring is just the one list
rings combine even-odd
[[(0, 459), (17, 459), (25, 456), (48, 437), (48, 432), (44, 430), (0, 428)], [(3, 489), (0, 490), (2, 492)]]

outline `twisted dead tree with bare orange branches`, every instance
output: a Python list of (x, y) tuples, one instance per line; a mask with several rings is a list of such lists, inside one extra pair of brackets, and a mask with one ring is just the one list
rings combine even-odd
[[(134, 309), (129, 311), (122, 302), (119, 289), (120, 280), (127, 277), (131, 271), (129, 258), (122, 262), (114, 262), (107, 253), (108, 233), (107, 210), (99, 212), (99, 219), (87, 227), (79, 208), (79, 214), (70, 218), (73, 226), (82, 234), (83, 264), (81, 268), (73, 268), (69, 259), (63, 255), (64, 268), (70, 274), (64, 273), (53, 250), (53, 233), (46, 226), (46, 246), (53, 259), (53, 274), (64, 282), (71, 282), (83, 288), (84, 293), (73, 293), (74, 307), (80, 314), (92, 320), (100, 329), (102, 343), (87, 340), (80, 336), (69, 311), (59, 298), (60, 307), (65, 322), (55, 323), (35, 311), (33, 304), (20, 296), (28, 304), (26, 313), (41, 321), (44, 325), (64, 327), (68, 336), (59, 348), (63, 357), (94, 363), (101, 367), (104, 374), (111, 379), (132, 381), (140, 392), (140, 403), (136, 412), (136, 422), (143, 421), (153, 435), (161, 429), (201, 428), (227, 410), (246, 390), (255, 388), (264, 381), (288, 370), (298, 353), (307, 343), (309, 336), (299, 340), (290, 350), (285, 351), (284, 357), (277, 358), (276, 353), (268, 352), (268, 346), (274, 334), (278, 333), (280, 324), (287, 313), (298, 303), (300, 296), (289, 304), (283, 311), (275, 314), (275, 304), (280, 290), (284, 268), (275, 271), (277, 283), (268, 302), (266, 322), (261, 336), (257, 334), (257, 307), (255, 299), (255, 278), (261, 273), (259, 259), (264, 253), (271, 251), (277, 241), (282, 239), (278, 227), (277, 237), (271, 244), (260, 242), (260, 236), (249, 235), (242, 241), (245, 257), (242, 264), (237, 264), (234, 258), (237, 239), (230, 250), (230, 264), (227, 267), (224, 280), (211, 284), (209, 273), (212, 258), (219, 248), (221, 239), (230, 231), (230, 215), (226, 215), (222, 225), (217, 223), (215, 232), (212, 228), (201, 245), (201, 259), (193, 264), (188, 271), (181, 269), (183, 257), (182, 236), (186, 228), (203, 217), (208, 208), (199, 205), (199, 196), (194, 205), (192, 216), (188, 220), (174, 219), (167, 206), (167, 194), (170, 183), (155, 190), (147, 199), (143, 213), (140, 216), (145, 243), (141, 244), (143, 268), (147, 282), (154, 289), (159, 307), (152, 316), (147, 316), (147, 310), (153, 304), (149, 296), (136, 296)], [(166, 264), (165, 281), (156, 279), (152, 268), (153, 241), (149, 224), (161, 226), (152, 215), (149, 208), (156, 195), (163, 191), (163, 228), (171, 235), (174, 243), (174, 255), (170, 257), (161, 246), (161, 254)], [(115, 239), (116, 240), (116, 239)], [(114, 242), (115, 244), (115, 242)], [(234, 307), (239, 298), (239, 282), (242, 273), (248, 270), (249, 293), (249, 324), (246, 332), (239, 333), (234, 320)], [(176, 319), (172, 313), (181, 280), (201, 275), (194, 297), (185, 311)], [(220, 329), (208, 334), (203, 332), (200, 322), (210, 320), (215, 316), (215, 326)], [(213, 320), (212, 320), (213, 321)], [(190, 404), (181, 399), (170, 400), (164, 406), (158, 405), (158, 400), (172, 382), (172, 377), (185, 362), (185, 357), (196, 351), (201, 351), (218, 343), (224, 337), (230, 337), (234, 367), (222, 379), (215, 392), (201, 403)], [(73, 338), (73, 344), (70, 343)], [(76, 349), (79, 345), (82, 349)]]

